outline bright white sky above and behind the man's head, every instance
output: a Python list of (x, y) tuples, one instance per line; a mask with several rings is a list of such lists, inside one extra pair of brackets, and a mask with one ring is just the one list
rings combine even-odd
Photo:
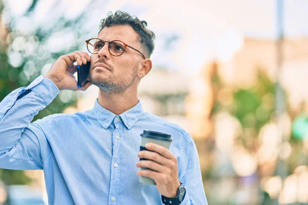
[[(22, 15), (31, 2), (5, 1), (14, 15)], [(57, 12), (67, 18), (87, 9), (89, 23), (82, 29), (90, 31), (90, 38), (96, 37), (99, 22), (108, 11), (124, 10), (146, 20), (148, 28), (156, 33), (153, 65), (185, 74), (196, 74), (208, 59), (230, 59), (241, 48), (243, 37), (274, 39), (277, 36), (276, 0), (115, 0), (93, 5), (90, 2), (41, 0), (31, 24), (45, 24), (59, 15), (52, 9), (55, 4), (60, 4), (62, 9)], [(308, 35), (307, 10), (306, 0), (284, 1), (286, 36)], [(171, 43), (167, 44), (167, 40)]]

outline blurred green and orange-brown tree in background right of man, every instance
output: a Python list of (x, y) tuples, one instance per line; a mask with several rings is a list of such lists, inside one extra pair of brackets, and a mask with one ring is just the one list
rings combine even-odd
[(257, 145), (252, 138), (258, 137), (260, 129), (271, 119), (275, 111), (275, 84), (262, 70), (258, 69), (257, 83), (251, 88), (234, 90), (233, 102), (227, 105), (217, 100), (218, 92), (226, 87), (216, 71), (211, 80), (215, 96), (212, 115), (225, 110), (235, 116), (243, 128), (237, 140), (247, 150), (256, 150)]

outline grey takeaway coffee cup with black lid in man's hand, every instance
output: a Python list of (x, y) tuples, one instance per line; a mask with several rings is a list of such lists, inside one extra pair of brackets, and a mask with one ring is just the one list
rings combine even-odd
[[(140, 151), (147, 150), (145, 148), (145, 144), (148, 142), (158, 144), (169, 149), (171, 144), (171, 135), (162, 133), (162, 132), (155, 132), (155, 131), (146, 131), (144, 130), (141, 136), (141, 146)], [(140, 160), (147, 160), (147, 159), (140, 159)], [(141, 168), (142, 170), (148, 170), (148, 168)], [(145, 183), (147, 185), (156, 185), (155, 181), (149, 177), (139, 176), (139, 182)]]

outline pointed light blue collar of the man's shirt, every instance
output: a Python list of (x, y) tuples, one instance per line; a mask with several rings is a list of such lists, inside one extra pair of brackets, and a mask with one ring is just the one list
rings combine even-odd
[[(105, 129), (107, 129), (110, 126), (111, 122), (117, 116), (114, 113), (102, 107), (99, 104), (98, 99), (95, 100), (93, 110), (95, 117)], [(131, 109), (125, 111), (124, 113), (118, 116), (120, 116), (120, 118), (123, 120), (123, 123), (126, 126), (126, 128), (130, 130), (142, 115), (143, 115), (143, 107), (141, 101), (139, 100), (136, 106), (132, 107)]]

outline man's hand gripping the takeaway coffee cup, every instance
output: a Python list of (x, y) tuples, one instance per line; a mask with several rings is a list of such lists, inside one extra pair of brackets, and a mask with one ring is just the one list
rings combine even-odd
[[(151, 170), (139, 170), (139, 176), (150, 177), (156, 182), (158, 192), (168, 198), (174, 198), (177, 190), (181, 186), (178, 178), (178, 160), (168, 149), (163, 146), (147, 143), (146, 149), (138, 153), (141, 160), (137, 162), (137, 167), (149, 168)], [(152, 152), (151, 152), (152, 151)]]

